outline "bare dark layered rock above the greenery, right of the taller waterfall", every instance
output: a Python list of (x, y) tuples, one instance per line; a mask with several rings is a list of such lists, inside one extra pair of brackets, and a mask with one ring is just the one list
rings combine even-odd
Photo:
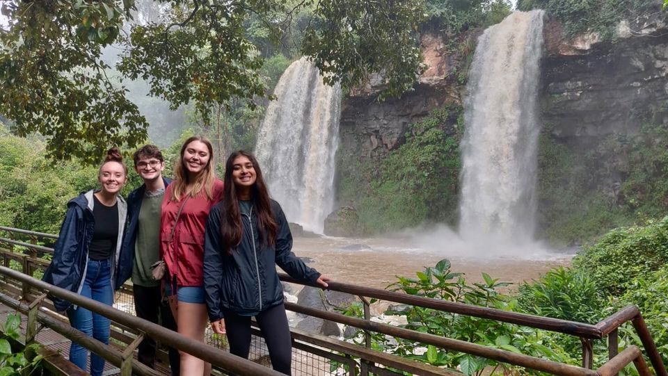
[(668, 29), (660, 10), (622, 22), (619, 39), (596, 34), (564, 40), (546, 23), (542, 117), (551, 135), (590, 146), (611, 134), (635, 134), (644, 122), (668, 124)]

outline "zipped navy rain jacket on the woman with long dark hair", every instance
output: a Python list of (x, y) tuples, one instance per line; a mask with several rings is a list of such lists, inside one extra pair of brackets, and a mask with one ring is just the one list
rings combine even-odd
[(212, 322), (223, 318), (221, 308), (248, 315), (282, 304), (283, 286), (276, 265), (303, 281), (315, 282), (320, 277), (292, 252), (292, 234), (278, 202), (271, 200), (271, 209), (278, 224), (276, 244), (260, 245), (257, 215), (250, 211), (250, 215), (241, 215), (244, 231), (231, 255), (221, 247), (223, 204), (211, 209), (204, 240), (204, 287)]

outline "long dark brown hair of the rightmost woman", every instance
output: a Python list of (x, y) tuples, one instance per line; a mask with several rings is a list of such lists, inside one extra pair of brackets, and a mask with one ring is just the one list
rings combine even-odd
[(253, 154), (239, 150), (230, 154), (230, 158), (225, 162), (225, 187), (223, 188), (223, 218), (221, 218), (221, 240), (223, 251), (232, 254), (232, 248), (241, 243), (241, 236), (244, 231), (244, 225), (241, 222), (241, 211), (239, 210), (239, 197), (237, 197), (237, 187), (232, 180), (232, 171), (234, 170), (234, 160), (239, 156), (245, 156), (253, 163), (255, 169), (255, 184), (250, 188), (250, 202), (253, 203), (253, 209), (257, 213), (257, 232), (260, 235), (260, 244), (269, 247), (276, 243), (278, 235), (278, 224), (273, 218), (271, 210), (271, 199), (269, 199), (269, 190), (267, 184), (262, 178), (262, 170)]

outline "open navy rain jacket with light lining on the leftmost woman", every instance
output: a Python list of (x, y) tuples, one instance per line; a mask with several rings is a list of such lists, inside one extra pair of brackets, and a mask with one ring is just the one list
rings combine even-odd
[[(81, 293), (88, 265), (88, 245), (93, 239), (95, 230), (95, 218), (93, 216), (93, 190), (74, 197), (67, 202), (67, 213), (58, 234), (58, 240), (54, 246), (54, 258), (49, 268), (44, 272), (42, 281), (54, 286), (65, 288), (73, 293)], [(115, 262), (111, 263), (111, 281), (109, 283), (116, 287), (114, 281), (116, 275), (125, 272), (118, 264), (120, 259), (120, 244), (122, 243), (123, 229), (125, 228), (125, 217), (127, 205), (122, 197), (118, 196), (118, 240), (116, 241), (116, 252), (113, 252)], [(118, 268), (117, 266), (120, 266)], [(120, 270), (118, 270), (120, 269)], [(132, 270), (130, 270), (132, 273)], [(57, 311), (65, 311), (72, 306), (71, 302), (51, 296)]]

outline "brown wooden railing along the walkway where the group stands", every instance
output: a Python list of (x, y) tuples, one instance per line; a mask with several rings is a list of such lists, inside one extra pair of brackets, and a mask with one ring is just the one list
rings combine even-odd
[[(3, 262), (8, 266), (8, 259), (13, 259), (19, 261), (15, 265), (21, 265), (21, 272), (15, 270), (9, 270), (8, 268), (0, 268), (0, 275), (10, 277), (12, 279), (17, 279), (22, 282), (22, 286), (17, 288), (15, 293), (21, 293), (22, 297), (28, 297), (27, 300), (31, 300), (31, 294), (29, 293), (29, 287), (37, 287), (45, 291), (54, 291), (54, 287), (45, 286), (41, 281), (35, 281), (29, 277), (21, 276), (22, 273), (32, 274), (35, 270), (44, 268), (48, 262), (45, 262), (39, 259), (37, 256), (38, 252), (53, 252), (51, 248), (45, 247), (42, 245), (37, 245), (39, 239), (46, 240), (47, 242), (53, 241), (56, 238), (53, 235), (49, 234), (40, 234), (33, 231), (17, 230), (11, 229), (8, 227), (0, 227), (0, 231), (6, 231), (9, 234), (7, 238), (0, 237), (0, 244), (6, 244), (7, 249), (0, 249), (0, 255), (3, 259)], [(29, 243), (26, 243), (17, 238), (29, 237)], [(29, 252), (26, 254), (16, 254), (11, 250), (14, 246), (26, 247), (29, 249)], [(292, 277), (287, 275), (280, 275), (280, 278), (283, 281), (293, 283), (293, 284), (303, 284), (301, 281), (297, 281)], [(308, 284), (307, 284), (308, 285)], [(311, 285), (318, 287), (317, 285)], [(357, 327), (363, 329), (367, 334), (365, 346), (353, 345), (344, 341), (339, 341), (335, 338), (328, 338), (326, 336), (321, 336), (318, 334), (311, 334), (303, 332), (299, 329), (291, 329), (292, 337), (296, 348), (300, 348), (306, 352), (312, 352), (317, 354), (320, 357), (325, 357), (326, 359), (331, 359), (332, 361), (338, 361), (340, 363), (347, 364), (349, 367), (349, 375), (356, 375), (356, 369), (359, 368), (361, 375), (367, 375), (367, 373), (372, 373), (375, 375), (399, 375), (389, 371), (387, 368), (395, 368), (402, 372), (414, 373), (417, 375), (461, 375), (454, 370), (445, 370), (443, 368), (438, 368), (434, 366), (429, 366), (428, 364), (420, 363), (410, 359), (404, 359), (397, 357), (392, 354), (385, 354), (383, 352), (377, 352), (372, 350), (370, 343), (370, 333), (376, 332), (385, 334), (388, 336), (395, 336), (398, 338), (404, 338), (409, 341), (415, 341), (416, 343), (424, 343), (427, 345), (434, 345), (438, 348), (445, 350), (452, 350), (457, 352), (464, 352), (466, 354), (472, 354), (479, 357), (484, 357), (487, 359), (493, 359), (495, 361), (500, 361), (503, 363), (509, 363), (516, 366), (522, 366), (525, 368), (530, 368), (532, 370), (542, 371), (546, 373), (551, 373), (554, 375), (564, 375), (564, 376), (612, 376), (619, 373), (619, 370), (628, 366), (630, 363), (634, 363), (639, 374), (641, 376), (650, 376), (651, 372), (646, 362), (644, 361), (643, 354), (641, 350), (635, 346), (630, 345), (628, 348), (624, 349), (622, 352), (617, 353), (618, 349), (618, 328), (625, 322), (632, 322), (635, 331), (637, 332), (640, 341), (642, 341), (642, 346), (644, 351), (647, 354), (647, 357), (651, 361), (651, 365), (655, 370), (656, 375), (658, 376), (668, 376), (666, 368), (662, 362), (658, 349), (649, 333), (641, 313), (636, 306), (627, 306), (624, 309), (621, 309), (617, 313), (614, 313), (612, 316), (598, 322), (596, 325), (585, 324), (582, 322), (573, 322), (568, 320), (559, 320), (555, 318), (546, 318), (541, 316), (533, 316), (524, 313), (508, 312), (502, 311), (499, 309), (491, 309), (482, 306), (474, 306), (470, 304), (461, 304), (456, 302), (447, 302), (443, 300), (431, 299), (428, 297), (417, 297), (413, 295), (406, 295), (402, 293), (396, 293), (392, 291), (385, 291), (378, 288), (368, 288), (363, 286), (356, 286), (352, 284), (343, 284), (336, 281), (331, 281), (329, 283), (329, 288), (333, 291), (340, 291), (342, 293), (349, 293), (351, 295), (356, 295), (360, 297), (360, 300), (365, 305), (365, 317), (364, 318), (353, 318), (349, 316), (344, 316), (340, 313), (335, 313), (331, 311), (324, 311), (321, 309), (314, 309), (307, 306), (300, 306), (299, 304), (286, 302), (285, 306), (287, 309), (303, 313), (308, 316), (313, 316), (321, 318), (324, 320), (331, 320), (333, 322), (339, 322), (344, 325), (350, 325), (352, 327)], [(59, 291), (59, 297), (64, 297), (67, 300), (80, 300), (85, 299), (80, 297), (77, 294), (69, 293), (67, 291)], [(65, 294), (67, 293), (67, 294)], [(501, 350), (498, 348), (492, 348), (489, 346), (478, 345), (475, 343), (468, 343), (466, 341), (459, 341), (452, 338), (445, 338), (443, 336), (436, 336), (434, 334), (426, 334), (422, 332), (416, 332), (409, 329), (404, 329), (401, 327), (395, 327), (392, 325), (387, 325), (379, 322), (374, 322), (371, 320), (370, 316), (370, 305), (369, 299), (373, 298), (377, 300), (385, 300), (388, 302), (395, 302), (400, 304), (411, 304), (413, 306), (421, 306), (424, 308), (435, 309), (438, 311), (457, 313), (460, 315), (472, 316), (481, 319), (495, 320), (499, 322), (507, 322), (514, 325), (523, 325), (527, 327), (533, 327), (536, 329), (544, 329), (551, 332), (559, 332), (568, 334), (571, 336), (576, 336), (582, 341), (582, 366), (573, 366), (565, 363), (559, 363), (557, 361), (550, 361), (548, 359), (541, 359), (537, 357), (532, 357), (526, 354), (517, 354), (515, 352), (509, 352), (507, 350)], [(1, 300), (1, 299), (0, 299)], [(4, 300), (3, 300), (4, 302)], [(97, 303), (97, 302), (95, 302)], [(86, 303), (90, 304), (90, 302)], [(97, 303), (100, 304), (100, 303)], [(159, 340), (167, 340), (168, 343), (177, 343), (182, 345), (181, 350), (186, 352), (191, 352), (196, 356), (202, 357), (207, 361), (212, 361), (212, 363), (221, 366), (221, 368), (230, 370), (230, 362), (234, 362), (235, 359), (230, 358), (231, 355), (226, 354), (223, 356), (218, 352), (213, 352), (214, 350), (207, 350), (205, 352), (204, 348), (193, 348), (192, 344), (186, 345), (182, 340), (176, 340), (172, 337), (167, 337), (169, 332), (164, 328), (156, 328), (146, 326), (144, 320), (130, 316), (132, 319), (127, 316), (120, 316), (118, 312), (112, 309), (109, 306), (97, 306), (97, 304), (91, 304), (91, 307), (95, 309), (100, 309), (101, 312), (104, 312), (104, 315), (109, 315), (107, 317), (111, 318), (114, 321), (119, 322), (121, 325), (127, 325), (128, 327), (136, 326), (143, 333), (146, 333), (151, 336), (155, 336)], [(124, 314), (126, 315), (126, 314)], [(141, 321), (141, 322), (140, 322)], [(150, 324), (150, 323), (148, 323)], [(70, 328), (71, 329), (71, 328)], [(170, 336), (177, 335), (171, 332)], [(609, 360), (599, 367), (597, 370), (592, 370), (593, 367), (593, 340), (606, 338), (608, 339), (608, 358)], [(81, 338), (79, 338), (81, 339)], [(201, 344), (200, 344), (201, 345)], [(202, 345), (204, 346), (204, 345)], [(175, 346), (177, 347), (177, 346)], [(210, 347), (209, 347), (210, 348)], [(324, 350), (323, 350), (324, 349)], [(341, 354), (337, 354), (341, 353)], [(218, 357), (218, 361), (213, 361), (213, 358)], [(359, 363), (353, 360), (353, 357), (356, 357), (359, 360)], [(116, 359), (118, 360), (118, 359)], [(121, 359), (122, 360), (122, 359)], [(244, 359), (245, 360), (245, 359)], [(110, 360), (111, 361), (111, 360)], [(245, 365), (246, 363), (244, 363)], [(250, 367), (250, 366), (249, 366)], [(267, 368), (265, 368), (267, 369)], [(237, 371), (233, 371), (237, 372)], [(255, 372), (255, 371), (253, 371)], [(246, 375), (248, 373), (240, 373), (241, 375)], [(311, 373), (305, 372), (304, 374), (310, 375)], [(315, 374), (315, 373), (313, 373)], [(253, 373), (253, 375), (262, 375), (261, 373)]]

